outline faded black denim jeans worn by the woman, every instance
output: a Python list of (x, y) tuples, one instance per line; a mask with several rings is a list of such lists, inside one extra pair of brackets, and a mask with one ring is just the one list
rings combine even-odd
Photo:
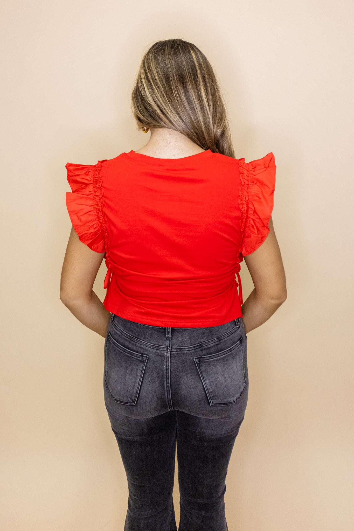
[(171, 328), (112, 314), (105, 403), (128, 482), (124, 531), (228, 531), (225, 478), (248, 397), (242, 318)]

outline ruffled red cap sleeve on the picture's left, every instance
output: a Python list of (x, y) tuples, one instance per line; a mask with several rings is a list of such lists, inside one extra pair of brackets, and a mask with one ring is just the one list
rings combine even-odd
[(92, 166), (68, 162), (65, 166), (72, 190), (66, 193), (72, 225), (80, 241), (97, 253), (106, 252), (107, 247), (101, 162)]

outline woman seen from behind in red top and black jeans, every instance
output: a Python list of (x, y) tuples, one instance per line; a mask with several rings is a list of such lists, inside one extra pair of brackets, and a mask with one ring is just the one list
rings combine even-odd
[[(128, 481), (125, 531), (224, 531), (248, 396), (247, 336), (285, 301), (273, 153), (235, 159), (208, 59), (156, 42), (132, 93), (143, 148), (67, 164), (61, 299), (106, 338), (104, 393)], [(106, 259), (103, 304), (92, 291)], [(254, 290), (243, 302), (240, 261)], [(236, 281), (237, 276), (237, 281)], [(237, 290), (238, 288), (238, 290)]]

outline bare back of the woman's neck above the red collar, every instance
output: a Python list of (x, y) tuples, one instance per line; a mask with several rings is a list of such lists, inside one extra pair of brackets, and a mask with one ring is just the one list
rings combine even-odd
[(184, 134), (173, 129), (154, 127), (149, 131), (149, 141), (141, 149), (135, 151), (136, 153), (163, 159), (178, 159), (205, 151)]

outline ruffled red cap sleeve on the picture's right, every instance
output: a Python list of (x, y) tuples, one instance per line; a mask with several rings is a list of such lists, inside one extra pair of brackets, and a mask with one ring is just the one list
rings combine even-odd
[(275, 161), (273, 153), (262, 159), (245, 162), (239, 159), (242, 256), (253, 253), (269, 233), (275, 190)]

